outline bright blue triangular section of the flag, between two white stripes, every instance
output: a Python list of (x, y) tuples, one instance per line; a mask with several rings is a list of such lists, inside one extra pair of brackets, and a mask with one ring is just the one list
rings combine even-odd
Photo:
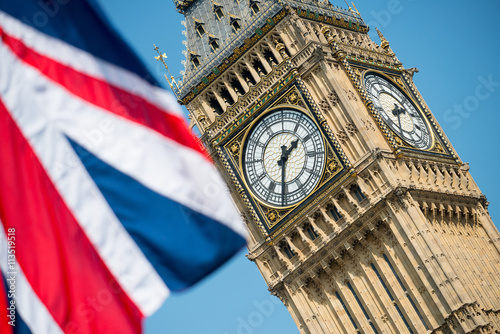
[(144, 187), (69, 141), (170, 290), (193, 285), (246, 244), (243, 237), (223, 224)]

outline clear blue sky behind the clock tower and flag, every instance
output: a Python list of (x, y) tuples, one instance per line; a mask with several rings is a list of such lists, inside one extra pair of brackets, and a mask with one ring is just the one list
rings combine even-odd
[[(158, 80), (162, 67), (153, 43), (182, 70), (183, 16), (172, 0), (100, 0), (111, 21)], [(344, 1), (333, 1), (345, 8)], [(378, 27), (414, 80), (444, 132), (491, 202), (500, 224), (500, 2), (363, 0), (355, 2), (379, 42)], [(165, 82), (166, 83), (166, 82)], [(146, 333), (299, 333), (257, 267), (238, 254), (188, 292), (170, 297), (146, 321)]]

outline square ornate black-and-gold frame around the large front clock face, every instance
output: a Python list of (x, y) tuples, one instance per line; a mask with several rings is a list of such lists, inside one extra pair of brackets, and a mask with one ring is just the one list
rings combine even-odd
[[(319, 200), (325, 200), (328, 194), (337, 189), (354, 171), (340, 144), (331, 134), (326, 120), (318, 119), (321, 117), (321, 111), (315, 106), (315, 102), (310, 98), (305, 86), (298, 83), (297, 80), (290, 81), (279, 94), (261, 101), (261, 103), (257, 102), (256, 107), (252, 105), (248, 107), (252, 115), (245, 117), (241, 123), (235, 123), (234, 127), (238, 131), (224, 137), (217, 147), (221, 149), (219, 154), (222, 154), (223, 160), (227, 162), (227, 164), (225, 163), (226, 169), (230, 173), (236, 192), (240, 194), (241, 204), (250, 210), (249, 213), (260, 227), (263, 236), (268, 240), (273, 240), (289, 226), (304, 219), (305, 214), (314, 207), (315, 203)], [(265, 205), (252, 196), (246, 184), (240, 159), (243, 154), (243, 138), (246, 139), (253, 125), (275, 107), (294, 108), (307, 115), (318, 127), (326, 150), (326, 164), (319, 184), (300, 203), (287, 208)], [(257, 110), (253, 111), (253, 108), (257, 108)]]

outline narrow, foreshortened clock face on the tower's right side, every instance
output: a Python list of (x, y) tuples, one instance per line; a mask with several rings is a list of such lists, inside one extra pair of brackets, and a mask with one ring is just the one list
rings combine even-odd
[(422, 150), (431, 147), (431, 134), (422, 114), (401, 90), (375, 74), (365, 76), (365, 87), (375, 109), (392, 131), (413, 147)]

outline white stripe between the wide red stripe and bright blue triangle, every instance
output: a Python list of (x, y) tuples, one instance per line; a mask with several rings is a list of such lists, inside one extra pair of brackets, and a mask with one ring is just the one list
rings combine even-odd
[(0, 97), (6, 108), (111, 273), (141, 312), (151, 315), (169, 290), (51, 119), (53, 109), (65, 109), (68, 96), (32, 67), (20, 63), (3, 44), (0, 59)]

